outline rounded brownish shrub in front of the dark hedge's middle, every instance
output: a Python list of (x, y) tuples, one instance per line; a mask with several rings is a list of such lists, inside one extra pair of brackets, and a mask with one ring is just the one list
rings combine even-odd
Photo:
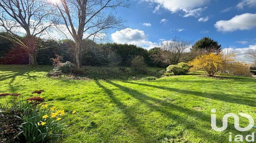
[(136, 72), (145, 72), (146, 71), (146, 65), (144, 62), (144, 58), (140, 55), (135, 56), (131, 60), (131, 69)]

